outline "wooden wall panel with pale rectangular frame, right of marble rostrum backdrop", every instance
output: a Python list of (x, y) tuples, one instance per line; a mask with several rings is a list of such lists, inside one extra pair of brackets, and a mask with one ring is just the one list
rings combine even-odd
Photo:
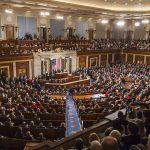
[(89, 67), (99, 66), (99, 55), (89, 56), (88, 64), (89, 64)]

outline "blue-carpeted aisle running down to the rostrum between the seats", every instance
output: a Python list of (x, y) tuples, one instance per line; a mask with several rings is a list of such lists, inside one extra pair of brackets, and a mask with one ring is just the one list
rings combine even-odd
[(81, 124), (72, 96), (66, 96), (66, 136), (81, 131)]

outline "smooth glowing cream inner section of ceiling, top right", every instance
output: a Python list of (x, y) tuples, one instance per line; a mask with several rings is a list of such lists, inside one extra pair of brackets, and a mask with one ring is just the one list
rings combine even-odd
[(112, 11), (150, 11), (150, 0), (52, 0)]

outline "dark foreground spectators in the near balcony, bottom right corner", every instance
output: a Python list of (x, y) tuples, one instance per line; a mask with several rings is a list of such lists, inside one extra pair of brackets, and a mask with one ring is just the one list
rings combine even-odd
[(128, 112), (125, 117), (119, 111), (118, 118), (104, 133), (90, 133), (89, 146), (78, 138), (69, 150), (149, 150), (150, 110), (133, 112)]

